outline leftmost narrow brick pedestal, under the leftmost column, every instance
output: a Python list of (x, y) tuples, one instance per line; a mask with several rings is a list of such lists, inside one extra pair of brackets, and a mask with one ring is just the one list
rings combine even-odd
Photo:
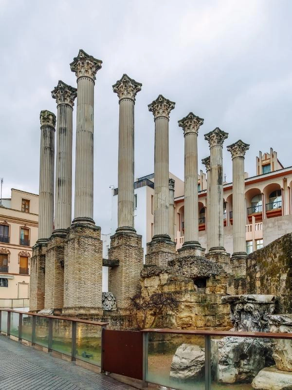
[(33, 247), (30, 270), (30, 312), (39, 312), (44, 308), (46, 252), (45, 242), (39, 242)]

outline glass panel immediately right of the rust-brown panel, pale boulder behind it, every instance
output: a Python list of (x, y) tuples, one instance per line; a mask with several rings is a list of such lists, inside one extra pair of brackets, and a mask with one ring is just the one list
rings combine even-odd
[(205, 338), (148, 333), (146, 381), (176, 390), (205, 389)]

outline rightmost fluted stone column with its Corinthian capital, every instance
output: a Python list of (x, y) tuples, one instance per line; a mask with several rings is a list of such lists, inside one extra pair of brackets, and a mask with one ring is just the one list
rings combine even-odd
[(249, 145), (239, 139), (227, 150), (232, 156), (232, 180), (233, 180), (233, 254), (232, 257), (246, 256), (245, 242), (245, 195), (244, 195), (244, 156)]

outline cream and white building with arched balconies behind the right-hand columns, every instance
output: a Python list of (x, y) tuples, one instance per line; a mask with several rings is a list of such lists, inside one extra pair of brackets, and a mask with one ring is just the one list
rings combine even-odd
[[(232, 161), (230, 159), (230, 164)], [(274, 241), (286, 233), (292, 232), (292, 167), (284, 168), (271, 148), (270, 153), (261, 153), (256, 157), (256, 175), (245, 174), (245, 211), (246, 211), (246, 251), (251, 253)], [(184, 242), (184, 183), (175, 179), (175, 241), (177, 249)], [(206, 220), (207, 194), (206, 175), (201, 171), (198, 176), (199, 190), (199, 240), (207, 248), (208, 221)], [(112, 190), (112, 227), (117, 228), (118, 189)], [(224, 183), (224, 247), (233, 253), (233, 196), (232, 183)], [(154, 174), (135, 181), (134, 222), (137, 233), (142, 234), (142, 245), (146, 253), (146, 243), (153, 235), (153, 196)], [(112, 233), (113, 234), (113, 233)]]

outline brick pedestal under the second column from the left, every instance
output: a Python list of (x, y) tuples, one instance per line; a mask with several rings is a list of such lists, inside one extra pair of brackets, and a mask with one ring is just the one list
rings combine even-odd
[(54, 233), (48, 240), (45, 274), (45, 309), (62, 313), (64, 296), (64, 246), (66, 233)]

